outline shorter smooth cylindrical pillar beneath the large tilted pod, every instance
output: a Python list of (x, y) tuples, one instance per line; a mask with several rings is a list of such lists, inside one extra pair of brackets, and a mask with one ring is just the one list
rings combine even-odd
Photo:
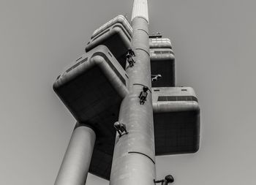
[(55, 185), (84, 185), (95, 143), (94, 130), (77, 124), (64, 155)]

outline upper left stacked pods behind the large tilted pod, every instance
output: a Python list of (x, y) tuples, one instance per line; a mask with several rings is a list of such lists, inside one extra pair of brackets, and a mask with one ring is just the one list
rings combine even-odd
[(125, 68), (125, 56), (131, 46), (131, 39), (132, 27), (123, 15), (118, 15), (94, 31), (90, 42), (86, 46), (86, 52), (97, 47), (97, 45), (106, 45), (121, 66)]

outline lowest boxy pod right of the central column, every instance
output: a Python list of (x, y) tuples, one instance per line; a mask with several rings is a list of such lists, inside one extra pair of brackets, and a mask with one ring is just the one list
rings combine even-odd
[(152, 88), (156, 155), (195, 153), (200, 107), (189, 87)]

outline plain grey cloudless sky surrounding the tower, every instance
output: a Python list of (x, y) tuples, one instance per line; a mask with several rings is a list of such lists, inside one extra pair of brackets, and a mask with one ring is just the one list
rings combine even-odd
[[(149, 0), (151, 33), (169, 37), (178, 86), (201, 107), (196, 154), (158, 156), (157, 177), (175, 184), (254, 185), (254, 0)], [(52, 90), (92, 32), (130, 1), (0, 1), (0, 184), (53, 184), (75, 119)], [(108, 181), (89, 175), (87, 184)]]

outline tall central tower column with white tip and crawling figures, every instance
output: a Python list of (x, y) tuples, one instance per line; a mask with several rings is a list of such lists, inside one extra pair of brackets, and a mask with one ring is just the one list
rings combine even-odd
[[(146, 0), (134, 1), (132, 28), (135, 65), (127, 69), (129, 94), (119, 112), (119, 121), (126, 124), (129, 134), (116, 136), (110, 185), (153, 185), (156, 176)], [(140, 105), (138, 96), (143, 86), (149, 91), (145, 104)]]

